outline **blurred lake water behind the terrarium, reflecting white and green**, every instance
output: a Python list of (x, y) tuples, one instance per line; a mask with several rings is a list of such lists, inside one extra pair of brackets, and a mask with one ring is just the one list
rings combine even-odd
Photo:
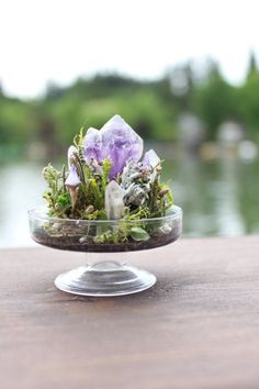
[[(54, 164), (55, 165), (55, 164)], [(43, 203), (43, 164), (0, 167), (0, 247), (32, 246), (26, 211)], [(181, 157), (164, 164), (176, 204), (184, 212), (183, 235), (259, 233), (259, 160)]]

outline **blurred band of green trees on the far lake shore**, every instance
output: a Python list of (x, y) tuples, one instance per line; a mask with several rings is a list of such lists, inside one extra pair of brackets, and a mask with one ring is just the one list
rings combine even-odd
[(0, 148), (40, 141), (58, 149), (70, 144), (80, 127), (100, 129), (115, 113), (145, 138), (173, 142), (179, 115), (187, 112), (204, 123), (207, 140), (216, 137), (222, 122), (234, 120), (245, 127), (247, 137), (258, 141), (259, 70), (255, 57), (245, 82), (235, 87), (211, 63), (202, 77), (190, 64), (156, 81), (97, 75), (79, 78), (66, 88), (48, 85), (45, 96), (26, 101), (9, 98), (0, 88)]

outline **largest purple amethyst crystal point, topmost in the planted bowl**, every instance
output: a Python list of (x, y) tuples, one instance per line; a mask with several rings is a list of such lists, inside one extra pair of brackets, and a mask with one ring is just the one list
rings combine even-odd
[(135, 162), (140, 158), (143, 140), (119, 114), (103, 125), (101, 133), (105, 157), (113, 162), (111, 177), (122, 173), (130, 158)]

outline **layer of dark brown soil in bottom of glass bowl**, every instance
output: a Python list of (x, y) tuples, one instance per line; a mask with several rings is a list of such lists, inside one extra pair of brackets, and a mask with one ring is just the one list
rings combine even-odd
[(178, 227), (174, 227), (168, 234), (153, 235), (148, 241), (136, 242), (128, 238), (122, 243), (94, 243), (91, 237), (80, 243), (80, 236), (49, 236), (44, 229), (37, 229), (33, 233), (35, 242), (52, 248), (66, 249), (71, 252), (92, 252), (92, 253), (111, 253), (111, 252), (134, 252), (138, 249), (149, 249), (165, 246), (174, 242), (180, 235)]

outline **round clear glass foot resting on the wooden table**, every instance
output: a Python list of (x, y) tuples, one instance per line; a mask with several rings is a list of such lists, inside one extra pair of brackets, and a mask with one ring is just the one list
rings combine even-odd
[(80, 296), (111, 297), (137, 293), (156, 284), (156, 277), (136, 267), (104, 260), (59, 275), (55, 286)]

